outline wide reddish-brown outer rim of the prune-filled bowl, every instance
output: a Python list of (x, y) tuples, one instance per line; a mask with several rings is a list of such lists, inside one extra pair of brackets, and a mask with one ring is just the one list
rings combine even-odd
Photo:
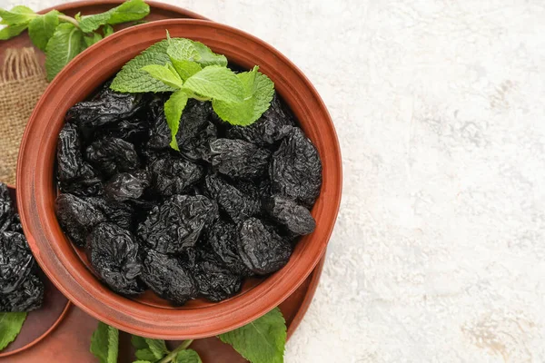
[[(57, 91), (59, 88), (62, 88), (61, 85), (65, 81), (65, 77), (70, 77), (71, 74), (77, 74), (78, 68), (82, 66), (82, 64), (85, 64), (87, 56), (100, 52), (101, 48), (107, 44), (104, 42), (115, 44), (115, 42), (119, 42), (120, 38), (128, 38), (132, 34), (137, 34), (144, 30), (151, 30), (158, 27), (163, 29), (170, 27), (169, 30), (171, 30), (174, 26), (180, 26), (180, 28), (187, 27), (188, 29), (191, 27), (192, 31), (194, 31), (193, 29), (198, 30), (203, 28), (211, 28), (213, 31), (233, 34), (233, 36), (240, 36), (245, 41), (251, 42), (263, 48), (265, 52), (273, 54), (275, 60), (285, 64), (292, 71), (292, 73), (298, 77), (306, 91), (312, 93), (313, 101), (317, 103), (318, 107), (320, 108), (322, 118), (327, 123), (321, 127), (328, 128), (328, 138), (331, 139), (332, 142), (332, 150), (329, 150), (328, 152), (332, 152), (332, 164), (334, 166), (332, 171), (334, 174), (332, 173), (330, 177), (332, 180), (334, 180), (331, 185), (331, 188), (334, 189), (334, 191), (332, 191), (333, 198), (331, 198), (331, 201), (328, 201), (327, 208), (324, 208), (326, 211), (328, 211), (329, 217), (331, 218), (328, 218), (329, 221), (322, 221), (323, 223), (327, 222), (327, 226), (324, 227), (325, 231), (322, 233), (321, 239), (316, 241), (316, 244), (320, 244), (319, 248), (316, 249), (319, 251), (319, 253), (312, 256), (310, 262), (304, 265), (304, 269), (302, 266), (294, 266), (296, 265), (295, 263), (288, 263), (286, 267), (272, 275), (274, 276), (274, 284), (272, 284), (272, 276), (268, 277), (256, 288), (248, 291), (249, 293), (241, 294), (240, 299), (238, 299), (239, 301), (236, 301), (237, 304), (233, 303), (234, 300), (237, 300), (237, 297), (235, 297), (231, 300), (225, 301), (225, 303), (215, 304), (212, 307), (203, 309), (164, 309), (165, 311), (157, 311), (156, 308), (137, 307), (139, 304), (132, 302), (132, 300), (125, 299), (109, 291), (108, 289), (104, 289), (104, 287), (102, 290), (96, 288), (92, 289), (92, 281), (90, 282), (85, 280), (85, 278), (82, 277), (78, 271), (74, 270), (70, 264), (65, 264), (65, 256), (57, 253), (58, 250), (55, 250), (55, 243), (52, 242), (54, 239), (51, 237), (54, 233), (44, 228), (44, 226), (51, 228), (51, 225), (47, 223), (49, 218), (47, 217), (47, 211), (51, 211), (53, 206), (45, 206), (39, 199), (38, 192), (40, 187), (44, 188), (43, 185), (45, 185), (47, 173), (36, 167), (27, 171), (30, 166), (26, 166), (25, 151), (31, 137), (41, 138), (38, 145), (43, 143), (44, 138), (49, 140), (51, 137), (54, 137), (56, 142), (58, 135), (55, 134), (53, 136), (47, 136), (47, 132), (36, 135), (35, 132), (33, 132), (35, 129), (33, 125), (36, 123), (36, 120), (40, 119), (38, 113), (44, 107), (44, 104), (48, 101), (48, 98), (55, 97), (52, 95), (52, 93)], [(175, 31), (171, 31), (171, 34), (175, 33)], [(155, 40), (154, 43), (158, 42), (159, 40), (160, 39)], [(35, 151), (35, 153), (38, 153), (38, 151)], [(38, 162), (37, 158), (40, 158), (40, 156), (36, 154), (35, 158), (35, 162)], [(17, 162), (16, 185), (18, 185), (17, 202), (19, 203), (19, 209), (21, 211), (21, 221), (23, 227), (25, 228), (25, 233), (28, 234), (27, 238), (31, 249), (35, 253), (36, 260), (40, 266), (42, 266), (49, 279), (54, 282), (55, 286), (57, 286), (57, 288), (60, 289), (68, 299), (73, 301), (76, 306), (83, 309), (86, 313), (94, 316), (94, 318), (102, 320), (115, 328), (122, 329), (129, 333), (140, 334), (151, 338), (206, 338), (236, 329), (250, 321), (253, 321), (253, 319), (263, 316), (263, 314), (265, 314), (267, 311), (278, 306), (284, 299), (288, 298), (292, 292), (302, 284), (309, 274), (312, 273), (313, 268), (321, 260), (327, 242), (331, 238), (340, 208), (342, 195), (341, 149), (337, 139), (337, 134), (333, 127), (331, 116), (328, 113), (319, 93), (313, 87), (308, 78), (302, 74), (302, 71), (295, 64), (292, 64), (287, 57), (273, 48), (272, 45), (265, 43), (251, 34), (247, 34), (228, 25), (221, 25), (204, 20), (169, 19), (155, 21), (144, 25), (136, 25), (114, 33), (113, 35), (105, 38), (104, 41), (94, 44), (86, 49), (82, 54), (77, 55), (74, 60), (70, 62), (70, 64), (67, 64), (64, 67), (63, 71), (54, 78), (52, 83), (49, 84), (44, 95), (37, 103), (35, 111), (32, 113), (29, 119), (29, 123), (27, 124), (25, 134), (23, 136), (23, 141), (21, 142)], [(35, 218), (38, 220), (35, 220)], [(54, 217), (54, 219), (56, 221), (56, 217)], [(56, 223), (58, 225), (58, 222)], [(48, 250), (40, 250), (40, 246), (38, 246), (37, 242), (39, 239), (45, 239), (45, 246), (48, 248)], [(288, 266), (291, 266), (290, 270), (286, 270)], [(289, 273), (292, 272), (295, 267), (298, 268), (298, 272), (301, 274), (292, 277), (292, 280), (290, 280), (288, 283), (282, 283), (282, 277), (289, 275)], [(70, 279), (74, 280), (72, 286), (69, 286), (68, 283), (72, 282)], [(276, 291), (275, 295), (269, 293), (271, 290)], [(245, 298), (243, 298), (244, 296)], [(105, 297), (107, 299), (105, 299)], [(231, 303), (229, 304), (229, 302)], [(97, 306), (100, 306), (100, 308), (97, 308)], [(228, 311), (223, 311), (227, 309), (227, 306), (229, 307)], [(234, 306), (236, 306), (236, 309), (234, 309)], [(154, 311), (151, 312), (152, 310)], [(199, 310), (207, 311), (203, 312)], [(175, 311), (175, 313), (173, 313), (173, 311)], [(121, 315), (116, 315), (115, 312)], [(193, 315), (195, 317), (199, 316), (199, 320), (194, 319), (193, 321), (189, 321), (188, 319), (193, 318)], [(173, 327), (173, 324), (182, 324), (182, 327), (176, 328)], [(206, 327), (207, 325), (210, 326)]]

